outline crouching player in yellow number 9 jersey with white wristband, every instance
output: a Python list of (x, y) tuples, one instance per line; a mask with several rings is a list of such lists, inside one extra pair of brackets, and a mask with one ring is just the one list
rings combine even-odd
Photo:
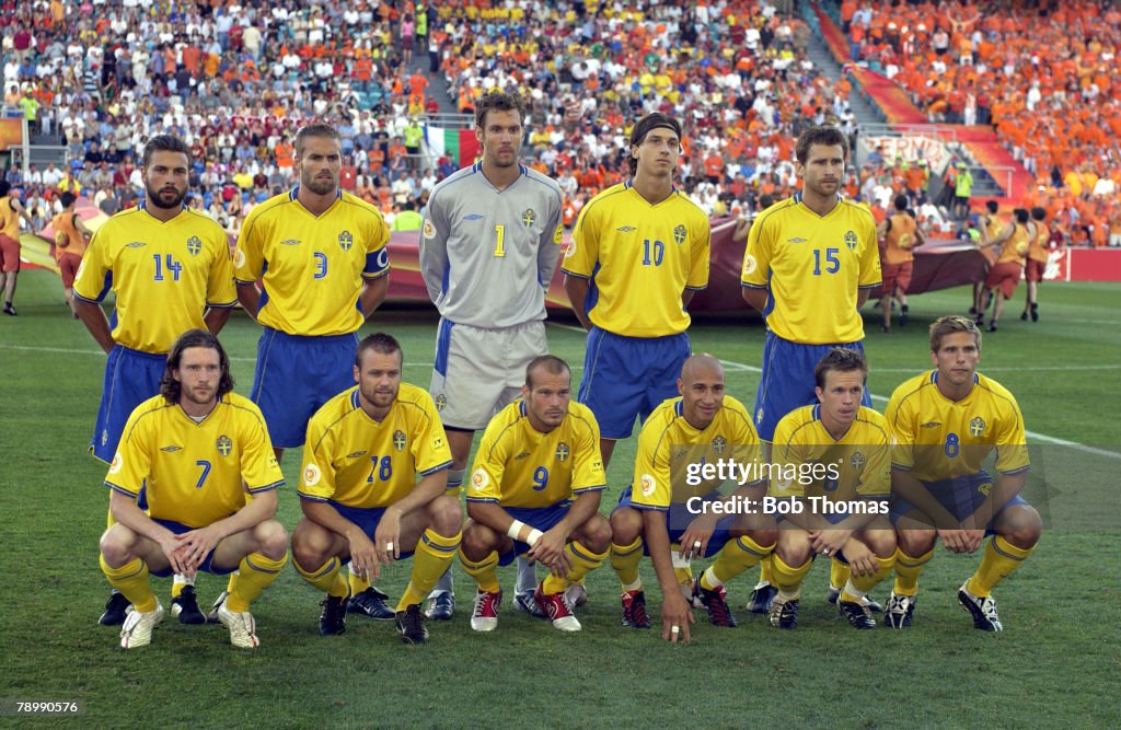
[(471, 628), (498, 627), (497, 569), (525, 554), (549, 569), (536, 603), (554, 628), (578, 631), (566, 589), (599, 567), (611, 546), (611, 526), (599, 514), (600, 426), (586, 406), (571, 403), (572, 373), (559, 358), (535, 358), (521, 395), (488, 424), (467, 489), (460, 560), (479, 584)]

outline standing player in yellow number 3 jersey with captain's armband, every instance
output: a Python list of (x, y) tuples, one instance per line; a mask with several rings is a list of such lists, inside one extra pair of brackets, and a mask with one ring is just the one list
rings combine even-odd
[[(312, 414), (353, 385), (358, 330), (389, 288), (389, 229), (377, 207), (340, 188), (341, 145), (330, 124), (300, 128), (299, 185), (254, 207), (238, 239), (238, 298), (263, 327), (251, 397), (277, 460), (304, 443)], [(368, 581), (352, 576), (351, 590), (351, 610), (393, 618)]]

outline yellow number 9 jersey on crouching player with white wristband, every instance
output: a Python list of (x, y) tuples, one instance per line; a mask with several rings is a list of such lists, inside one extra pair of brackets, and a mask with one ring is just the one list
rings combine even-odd
[(606, 486), (600, 426), (591, 409), (568, 404), (568, 415), (547, 434), (532, 427), (524, 400), (494, 416), (475, 454), (469, 502), (550, 507)]

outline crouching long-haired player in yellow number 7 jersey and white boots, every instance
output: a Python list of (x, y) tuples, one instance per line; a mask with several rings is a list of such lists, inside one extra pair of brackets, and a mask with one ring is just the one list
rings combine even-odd
[[(133, 607), (121, 628), (127, 649), (150, 644), (164, 620), (149, 573), (194, 577), (200, 570), (240, 572), (217, 618), (231, 644), (258, 645), (249, 604), (288, 561), (288, 535), (272, 519), (284, 475), (261, 412), (232, 389), (217, 339), (191, 330), (172, 346), (160, 395), (124, 427), (105, 477), (117, 524), (101, 537), (101, 570)], [(147, 511), (137, 506), (145, 484)]]

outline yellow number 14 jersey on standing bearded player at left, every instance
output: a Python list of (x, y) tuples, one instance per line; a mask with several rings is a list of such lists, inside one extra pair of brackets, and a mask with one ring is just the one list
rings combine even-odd
[(207, 306), (238, 302), (225, 231), (191, 209), (166, 223), (142, 205), (122, 211), (93, 234), (74, 277), (74, 296), (86, 302), (101, 302), (110, 288), (113, 340), (167, 352), (187, 330), (206, 329)]

